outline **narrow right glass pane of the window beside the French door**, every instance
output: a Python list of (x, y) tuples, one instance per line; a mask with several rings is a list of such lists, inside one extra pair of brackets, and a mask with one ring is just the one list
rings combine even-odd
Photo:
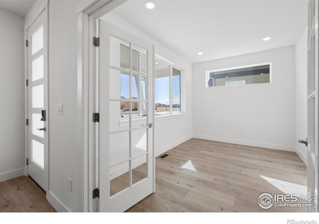
[(180, 112), (180, 71), (172, 68), (172, 113)]

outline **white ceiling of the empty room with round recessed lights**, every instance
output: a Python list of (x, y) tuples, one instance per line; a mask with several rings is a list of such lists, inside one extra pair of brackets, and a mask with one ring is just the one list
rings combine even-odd
[(114, 12), (192, 63), (295, 45), (307, 28), (307, 0), (154, 0), (152, 10), (145, 2)]

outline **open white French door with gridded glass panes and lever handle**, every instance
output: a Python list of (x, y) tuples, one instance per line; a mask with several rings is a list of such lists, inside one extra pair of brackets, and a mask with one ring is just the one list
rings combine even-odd
[(153, 192), (153, 45), (99, 20), (100, 212)]

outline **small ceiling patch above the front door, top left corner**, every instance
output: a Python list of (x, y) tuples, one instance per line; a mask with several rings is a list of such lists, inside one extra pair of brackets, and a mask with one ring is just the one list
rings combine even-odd
[(35, 0), (0, 0), (0, 8), (25, 16)]

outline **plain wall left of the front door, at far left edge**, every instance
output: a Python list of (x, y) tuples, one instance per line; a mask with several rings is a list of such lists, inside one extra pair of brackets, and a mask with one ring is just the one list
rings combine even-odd
[(0, 182), (24, 175), (24, 18), (0, 8)]

